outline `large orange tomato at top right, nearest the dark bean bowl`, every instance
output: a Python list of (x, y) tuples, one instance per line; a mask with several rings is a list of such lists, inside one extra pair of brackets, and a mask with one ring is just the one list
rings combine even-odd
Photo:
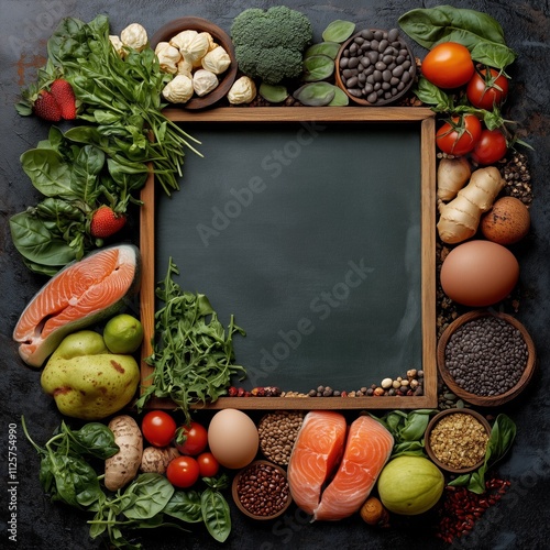
[(474, 74), (474, 63), (466, 46), (443, 42), (433, 46), (425, 57), (422, 75), (438, 88), (459, 88)]

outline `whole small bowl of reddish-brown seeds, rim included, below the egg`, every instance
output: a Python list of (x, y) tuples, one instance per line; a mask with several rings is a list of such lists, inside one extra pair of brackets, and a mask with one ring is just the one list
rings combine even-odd
[(267, 460), (256, 460), (233, 480), (237, 507), (253, 519), (274, 519), (292, 503), (290, 488), (283, 468)]

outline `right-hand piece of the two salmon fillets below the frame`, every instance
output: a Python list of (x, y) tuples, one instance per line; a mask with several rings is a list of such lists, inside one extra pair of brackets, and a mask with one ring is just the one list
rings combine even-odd
[(342, 462), (314, 509), (316, 520), (336, 520), (361, 508), (392, 454), (394, 438), (377, 420), (360, 416), (350, 426)]

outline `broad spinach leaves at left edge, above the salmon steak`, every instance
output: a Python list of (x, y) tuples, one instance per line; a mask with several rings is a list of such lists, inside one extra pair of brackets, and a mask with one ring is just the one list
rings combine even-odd
[(106, 153), (113, 152), (86, 143), (90, 140), (75, 144), (70, 135), (76, 130), (63, 134), (52, 127), (47, 140), (21, 155), (23, 170), (44, 198), (10, 218), (11, 235), (25, 264), (46, 275), (102, 245), (90, 235), (94, 210), (108, 204), (124, 212), (129, 202), (140, 204), (134, 195), (148, 172), (142, 163), (129, 166), (108, 158)]

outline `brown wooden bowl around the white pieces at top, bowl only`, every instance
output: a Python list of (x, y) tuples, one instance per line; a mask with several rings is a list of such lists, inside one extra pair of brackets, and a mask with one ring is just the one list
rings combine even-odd
[(220, 99), (227, 96), (228, 91), (233, 86), (237, 77), (237, 59), (235, 51), (233, 47), (233, 42), (229, 35), (219, 26), (215, 25), (210, 21), (201, 18), (179, 18), (175, 19), (161, 26), (158, 31), (151, 38), (151, 47), (153, 50), (160, 42), (169, 42), (169, 40), (182, 31), (197, 31), (197, 32), (208, 32), (211, 34), (212, 38), (217, 44), (222, 46), (226, 52), (231, 57), (231, 65), (222, 75), (220, 84), (210, 94), (204, 97), (194, 96), (187, 103), (174, 103), (175, 107), (182, 107), (185, 109), (205, 109), (216, 103)]

